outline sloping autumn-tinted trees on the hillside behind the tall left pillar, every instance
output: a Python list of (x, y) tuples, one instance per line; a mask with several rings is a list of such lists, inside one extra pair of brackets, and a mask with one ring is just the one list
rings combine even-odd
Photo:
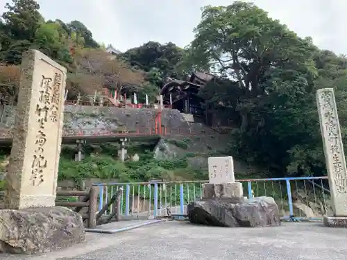
[[(94, 95), (103, 87), (122, 92), (146, 92), (151, 101), (158, 94), (146, 72), (104, 51), (92, 32), (80, 21), (45, 21), (33, 0), (6, 3), (0, 20), (0, 94), (5, 103), (15, 104), (22, 53), (39, 49), (67, 68), (67, 99)], [(155, 92), (155, 94), (153, 93)]]

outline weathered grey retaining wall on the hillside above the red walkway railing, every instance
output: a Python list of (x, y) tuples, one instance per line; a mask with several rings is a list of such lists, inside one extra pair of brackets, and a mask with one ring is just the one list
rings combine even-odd
[[(0, 132), (8, 137), (8, 128), (14, 126), (15, 107), (5, 105), (0, 108)], [(146, 130), (155, 129), (158, 110), (118, 107), (93, 107), (65, 105), (65, 130)], [(187, 122), (178, 110), (162, 110), (162, 125), (166, 128), (187, 128)], [(7, 128), (7, 130), (3, 130)], [(1, 137), (0, 135), (0, 137)]]

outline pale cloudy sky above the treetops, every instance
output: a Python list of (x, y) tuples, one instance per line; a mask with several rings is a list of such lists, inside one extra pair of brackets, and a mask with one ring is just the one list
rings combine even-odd
[[(6, 0), (0, 0), (5, 3)], [(39, 0), (45, 19), (81, 21), (97, 42), (119, 51), (145, 42), (187, 46), (201, 18), (201, 7), (226, 6), (232, 0)], [(321, 49), (347, 53), (347, 1), (255, 0), (269, 16), (299, 36), (310, 36)], [(0, 12), (3, 12), (2, 4)]]

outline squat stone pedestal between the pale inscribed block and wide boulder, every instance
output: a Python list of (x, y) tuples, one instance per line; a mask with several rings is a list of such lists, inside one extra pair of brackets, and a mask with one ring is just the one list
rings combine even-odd
[(225, 198), (244, 198), (242, 183), (230, 182), (203, 184), (203, 199), (221, 200)]

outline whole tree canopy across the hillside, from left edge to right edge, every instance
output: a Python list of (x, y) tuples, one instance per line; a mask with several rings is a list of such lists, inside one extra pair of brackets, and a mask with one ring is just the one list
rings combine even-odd
[(67, 67), (69, 99), (105, 85), (154, 98), (167, 76), (185, 78), (192, 69), (216, 73), (222, 80), (199, 95), (238, 125), (228, 154), (268, 168), (273, 177), (325, 175), (317, 89), (334, 87), (346, 142), (346, 56), (319, 49), (253, 3), (203, 8), (186, 49), (148, 42), (115, 59), (80, 21), (45, 21), (39, 10), (33, 0), (13, 0), (2, 15), (6, 102), (15, 103), (22, 52), (36, 48)]

